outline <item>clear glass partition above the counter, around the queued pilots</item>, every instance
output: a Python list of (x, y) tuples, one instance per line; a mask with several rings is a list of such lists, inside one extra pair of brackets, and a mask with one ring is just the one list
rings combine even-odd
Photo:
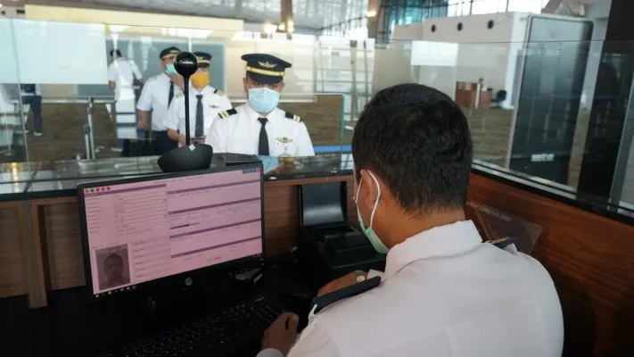
[[(158, 172), (152, 135), (137, 129), (136, 101), (161, 75), (159, 54), (169, 46), (211, 54), (210, 86), (234, 107), (247, 101), (243, 54), (292, 62), (279, 107), (301, 116), (317, 154), (340, 158), (349, 157), (359, 113), (376, 92), (403, 82), (436, 87), (463, 108), (476, 162), (572, 194), (582, 162), (590, 160), (589, 129), (605, 119), (603, 106), (608, 112), (627, 106), (597, 102), (596, 92), (609, 85), (605, 73), (632, 76), (623, 70), (630, 57), (602, 57), (605, 44), (599, 41), (376, 44), (367, 38), (9, 19), (0, 20), (0, 35), (10, 38), (12, 48), (0, 59), (0, 162), (19, 163), (25, 173), (18, 177), (27, 180), (37, 167), (32, 179), (38, 181)], [(139, 70), (126, 90), (109, 85), (114, 49)], [(630, 126), (622, 128), (623, 136), (631, 137)], [(619, 159), (625, 162), (624, 204), (634, 203), (631, 147), (630, 138), (619, 154), (628, 158)], [(349, 164), (342, 159), (337, 166)], [(11, 170), (0, 170), (3, 181), (20, 181)]]

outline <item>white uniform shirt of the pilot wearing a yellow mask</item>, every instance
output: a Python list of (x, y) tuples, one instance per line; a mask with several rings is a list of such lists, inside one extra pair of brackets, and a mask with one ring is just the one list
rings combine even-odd
[[(231, 101), (224, 93), (218, 91), (214, 87), (204, 87), (202, 91), (196, 90), (193, 86), (189, 87), (189, 133), (191, 137), (195, 137), (196, 130), (196, 107), (198, 98), (196, 95), (202, 95), (202, 110), (204, 127), (202, 135), (207, 135), (211, 129), (211, 124), (218, 118), (218, 113), (231, 109)], [(177, 95), (172, 104), (169, 105), (168, 118), (165, 121), (167, 129), (178, 130), (181, 135), (185, 135), (185, 94)]]

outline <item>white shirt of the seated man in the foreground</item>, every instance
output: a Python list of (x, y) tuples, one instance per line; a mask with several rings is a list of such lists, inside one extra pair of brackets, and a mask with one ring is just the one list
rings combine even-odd
[(380, 286), (318, 312), (288, 355), (561, 357), (553, 281), (511, 247), (482, 244), (472, 221), (410, 237), (388, 253)]

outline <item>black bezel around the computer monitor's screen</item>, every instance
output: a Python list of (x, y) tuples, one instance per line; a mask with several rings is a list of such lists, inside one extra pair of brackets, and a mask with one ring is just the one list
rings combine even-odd
[[(261, 220), (262, 253), (251, 255), (241, 259), (237, 259), (235, 261), (222, 262), (216, 265), (211, 265), (211, 266), (203, 267), (196, 270), (189, 270), (189, 271), (184, 271), (182, 273), (169, 275), (164, 278), (157, 278), (150, 281), (145, 281), (143, 283), (137, 283), (132, 285), (132, 286), (135, 286), (133, 289), (130, 289), (129, 291), (126, 291), (125, 293), (121, 293), (121, 292), (113, 293), (113, 294), (108, 294), (108, 292), (95, 293), (95, 291), (93, 290), (93, 267), (92, 267), (92, 264), (90, 263), (90, 246), (88, 245), (88, 231), (87, 231), (87, 221), (86, 221), (87, 219), (86, 219), (86, 210), (85, 210), (86, 195), (84, 195), (84, 190), (86, 188), (102, 187), (104, 185), (113, 186), (113, 185), (131, 184), (131, 183), (137, 183), (137, 182), (152, 181), (157, 179), (177, 179), (177, 178), (182, 178), (187, 176), (196, 176), (196, 175), (203, 175), (203, 174), (213, 174), (213, 173), (219, 173), (219, 172), (248, 170), (248, 169), (259, 169), (259, 173), (260, 173), (259, 187), (260, 187), (260, 193), (262, 197), (262, 200), (260, 202), (260, 215), (262, 217), (262, 220)], [(193, 170), (193, 171), (185, 171), (185, 172), (177, 172), (177, 173), (156, 174), (156, 175), (148, 175), (148, 176), (128, 178), (128, 179), (109, 179), (109, 180), (93, 181), (93, 182), (78, 184), (77, 193), (78, 193), (78, 209), (79, 209), (79, 226), (80, 226), (80, 236), (81, 236), (80, 239), (81, 239), (83, 260), (84, 260), (84, 275), (86, 279), (86, 294), (90, 295), (91, 300), (101, 301), (101, 300), (115, 298), (117, 296), (129, 295), (130, 293), (135, 293), (139, 291), (151, 290), (152, 287), (156, 287), (160, 285), (177, 286), (179, 284), (178, 283), (179, 281), (184, 282), (186, 278), (190, 278), (193, 276), (194, 277), (200, 276), (201, 274), (210, 273), (210, 272), (213, 272), (214, 270), (218, 270), (218, 271), (230, 270), (232, 268), (238, 268), (241, 266), (251, 266), (251, 265), (254, 265), (255, 263), (257, 263), (259, 267), (262, 267), (264, 265), (264, 252), (266, 248), (265, 246), (266, 232), (265, 232), (265, 226), (264, 226), (265, 217), (264, 217), (264, 172), (263, 170), (264, 170), (263, 165), (261, 162), (259, 162), (259, 163), (248, 163), (244, 165), (236, 165), (231, 167), (210, 168), (208, 170)], [(115, 290), (110, 290), (110, 291), (115, 291)]]

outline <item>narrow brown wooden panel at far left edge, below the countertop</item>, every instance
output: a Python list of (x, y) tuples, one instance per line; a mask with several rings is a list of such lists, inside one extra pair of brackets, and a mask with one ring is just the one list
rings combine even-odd
[(0, 205), (0, 297), (27, 293), (25, 261), (21, 254), (25, 227), (21, 227), (19, 209)]

